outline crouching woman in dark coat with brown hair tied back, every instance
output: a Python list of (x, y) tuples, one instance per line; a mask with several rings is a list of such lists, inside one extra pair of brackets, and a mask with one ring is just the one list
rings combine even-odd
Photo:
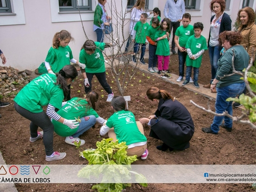
[(152, 103), (157, 103), (158, 107), (155, 115), (141, 118), (139, 122), (147, 123), (151, 127), (150, 137), (164, 142), (156, 148), (162, 151), (168, 148), (170, 151), (189, 148), (189, 141), (194, 134), (194, 122), (187, 108), (167, 91), (157, 87), (150, 87), (147, 97)]

